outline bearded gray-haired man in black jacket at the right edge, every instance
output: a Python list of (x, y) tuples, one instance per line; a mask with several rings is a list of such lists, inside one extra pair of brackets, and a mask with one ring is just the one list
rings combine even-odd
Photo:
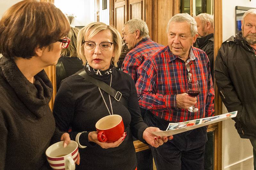
[(256, 9), (242, 18), (242, 32), (223, 42), (215, 60), (218, 91), (228, 111), (236, 111), (236, 130), (250, 139), (256, 170)]

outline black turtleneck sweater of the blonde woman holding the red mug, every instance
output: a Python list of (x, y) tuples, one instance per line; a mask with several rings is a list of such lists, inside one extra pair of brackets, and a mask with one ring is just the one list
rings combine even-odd
[[(61, 131), (68, 131), (70, 127), (72, 128), (72, 132), (69, 133), (71, 140), (75, 140), (78, 132), (86, 131), (81, 134), (79, 143), (87, 147), (79, 148), (81, 160), (76, 169), (134, 170), (137, 161), (132, 135), (142, 141), (143, 131), (148, 127), (140, 115), (134, 82), (128, 74), (116, 69), (95, 74), (99, 70), (93, 70), (87, 65), (85, 70), (90, 76), (107, 84), (110, 84), (112, 74), (111, 87), (120, 91), (128, 99), (128, 109), (126, 109), (122, 103), (110, 96), (113, 112), (122, 116), (127, 136), (123, 143), (115, 148), (103, 149), (93, 142), (88, 142), (88, 133), (96, 131), (96, 122), (109, 115), (107, 107), (98, 87), (91, 82), (75, 74), (64, 79), (55, 98), (53, 115), (56, 126)], [(108, 94), (103, 90), (101, 92), (111, 112)]]

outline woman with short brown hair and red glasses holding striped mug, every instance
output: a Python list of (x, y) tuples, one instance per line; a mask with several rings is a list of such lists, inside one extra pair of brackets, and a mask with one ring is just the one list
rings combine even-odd
[(44, 68), (68, 47), (69, 22), (53, 4), (24, 0), (0, 20), (0, 169), (50, 169), (45, 150), (68, 133), (55, 129), (52, 83)]

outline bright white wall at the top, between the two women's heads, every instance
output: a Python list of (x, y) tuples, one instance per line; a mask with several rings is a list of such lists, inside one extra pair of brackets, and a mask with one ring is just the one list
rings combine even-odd
[[(54, 5), (64, 14), (74, 14), (71, 26), (85, 26), (95, 22), (94, 0), (54, 0)], [(104, 10), (105, 11), (105, 10)]]

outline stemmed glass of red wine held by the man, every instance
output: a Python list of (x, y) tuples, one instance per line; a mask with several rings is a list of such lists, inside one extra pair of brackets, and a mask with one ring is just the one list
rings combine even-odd
[[(187, 93), (189, 96), (196, 97), (200, 93), (198, 81), (189, 80), (187, 86)], [(188, 108), (191, 112), (197, 112), (198, 108), (195, 105)]]

